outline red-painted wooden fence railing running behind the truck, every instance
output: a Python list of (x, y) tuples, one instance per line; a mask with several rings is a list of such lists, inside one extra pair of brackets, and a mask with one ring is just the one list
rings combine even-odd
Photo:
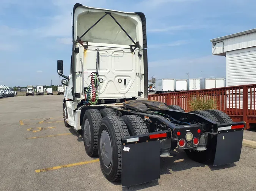
[(148, 95), (148, 99), (164, 102), (167, 105), (179, 105), (185, 111), (191, 110), (189, 103), (197, 97), (206, 100), (214, 99), (217, 106), (216, 109), (228, 114), (234, 122), (246, 122), (248, 129), (252, 123), (256, 123), (255, 88), (256, 84), (170, 92)]

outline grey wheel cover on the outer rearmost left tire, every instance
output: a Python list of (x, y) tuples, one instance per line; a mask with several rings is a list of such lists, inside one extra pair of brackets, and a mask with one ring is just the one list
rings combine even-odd
[(101, 133), (101, 156), (104, 165), (108, 168), (112, 163), (112, 146), (110, 136), (106, 130)]

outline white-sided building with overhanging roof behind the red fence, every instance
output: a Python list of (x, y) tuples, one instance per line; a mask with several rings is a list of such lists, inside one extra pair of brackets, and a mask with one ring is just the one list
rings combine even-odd
[(256, 29), (210, 42), (212, 55), (226, 57), (226, 86), (256, 84)]

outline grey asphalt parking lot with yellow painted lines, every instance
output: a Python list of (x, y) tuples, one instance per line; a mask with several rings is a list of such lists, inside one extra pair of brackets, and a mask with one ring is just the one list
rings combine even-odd
[[(0, 99), (0, 190), (122, 190), (88, 157), (83, 139), (62, 119), (63, 95)], [(256, 190), (256, 149), (218, 167), (188, 159), (181, 150), (162, 159), (159, 180), (124, 190)]]

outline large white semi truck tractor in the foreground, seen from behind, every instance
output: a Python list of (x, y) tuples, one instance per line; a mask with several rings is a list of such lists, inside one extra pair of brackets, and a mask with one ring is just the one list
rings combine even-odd
[(218, 110), (184, 112), (177, 105), (141, 99), (148, 96), (143, 13), (77, 3), (72, 23), (68, 76), (63, 61), (57, 61), (61, 83), (68, 86), (64, 124), (82, 131), (86, 153), (99, 156), (108, 180), (130, 186), (159, 179), (160, 157), (176, 147), (201, 163), (239, 161), (244, 122), (232, 122)]

